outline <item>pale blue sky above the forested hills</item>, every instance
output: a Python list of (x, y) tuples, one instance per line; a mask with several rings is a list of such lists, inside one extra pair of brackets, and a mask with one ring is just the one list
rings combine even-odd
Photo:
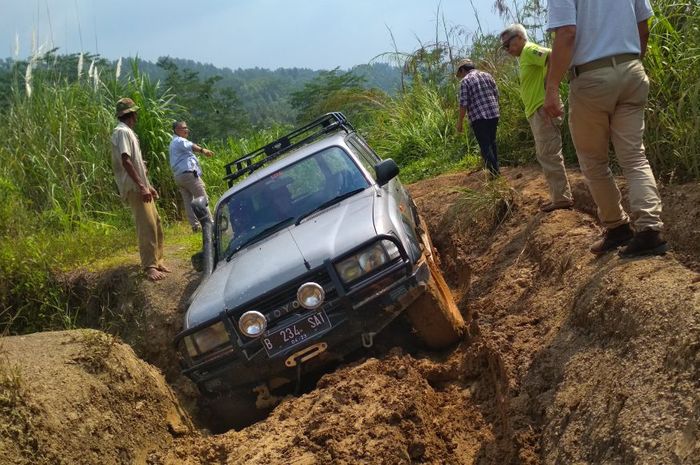
[[(485, 32), (505, 24), (493, 0), (471, 0)], [(347, 69), (435, 38), (478, 29), (470, 0), (0, 0), (0, 57), (38, 45), (105, 58), (188, 58), (219, 67)], [(442, 20), (441, 20), (442, 21)], [(442, 29), (442, 24), (440, 24)]]

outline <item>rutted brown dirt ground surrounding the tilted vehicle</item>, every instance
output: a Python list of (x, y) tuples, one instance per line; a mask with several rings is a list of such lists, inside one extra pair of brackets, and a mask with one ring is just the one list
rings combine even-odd
[[(456, 189), (480, 188), (478, 173), (410, 189), (458, 306), (474, 317), (472, 337), (453, 350), (380, 344), (315, 390), (285, 399), (267, 420), (210, 436), (189, 427), (163, 379), (121, 344), (95, 368), (100, 358), (84, 336), (5, 338), (0, 425), (9, 426), (0, 426), (0, 457), (18, 464), (700, 464), (700, 186), (662, 192), (672, 253), (596, 259), (587, 247), (599, 230), (578, 176), (576, 209), (549, 215), (537, 212), (546, 196), (537, 170), (506, 176), (514, 202), (498, 227), (458, 208)], [(186, 263), (176, 265), (168, 283), (134, 287), (133, 270), (125, 269), (73, 276), (71, 285), (83, 304), (87, 295), (110, 296), (109, 308), (103, 298), (85, 304), (94, 320), (119, 309), (112, 327), (128, 328), (124, 339), (161, 369), (200, 424), (192, 386), (177, 375), (167, 345), (183, 289), (196, 280)], [(47, 391), (40, 373), (48, 372), (75, 390)], [(64, 419), (49, 421), (55, 418)], [(71, 440), (61, 434), (66, 428)]]

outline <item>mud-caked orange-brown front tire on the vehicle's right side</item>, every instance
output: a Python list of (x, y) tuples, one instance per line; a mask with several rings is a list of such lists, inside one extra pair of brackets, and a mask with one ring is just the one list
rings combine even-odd
[(425, 293), (406, 310), (406, 316), (425, 345), (431, 349), (445, 349), (462, 339), (466, 324), (438, 267), (430, 234), (422, 218), (420, 233), (430, 278)]

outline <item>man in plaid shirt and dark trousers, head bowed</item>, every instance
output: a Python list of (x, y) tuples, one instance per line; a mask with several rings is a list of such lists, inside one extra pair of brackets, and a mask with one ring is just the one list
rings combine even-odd
[(458, 63), (457, 77), (460, 79), (457, 132), (462, 132), (464, 117), (469, 115), (486, 169), (493, 176), (499, 176), (496, 128), (500, 113), (496, 81), (489, 73), (477, 70), (468, 59)]

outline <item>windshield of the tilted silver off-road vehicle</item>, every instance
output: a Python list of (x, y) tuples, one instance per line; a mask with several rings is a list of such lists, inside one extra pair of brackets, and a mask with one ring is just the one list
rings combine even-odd
[(359, 192), (369, 182), (341, 147), (329, 147), (286, 166), (219, 205), (216, 213), (217, 256), (231, 257), (245, 245), (330, 206), (333, 199)]

